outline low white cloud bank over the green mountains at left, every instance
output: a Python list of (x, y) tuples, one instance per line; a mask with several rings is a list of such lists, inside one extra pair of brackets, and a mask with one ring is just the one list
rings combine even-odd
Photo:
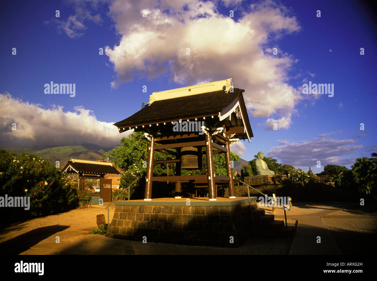
[[(64, 112), (62, 106), (43, 109), (14, 98), (8, 92), (0, 94), (0, 146), (25, 145), (80, 145), (97, 144), (115, 147), (125, 137), (113, 123), (101, 122), (93, 111), (75, 107), (75, 112)], [(12, 124), (16, 130), (12, 130)], [(100, 125), (103, 130), (100, 130)]]

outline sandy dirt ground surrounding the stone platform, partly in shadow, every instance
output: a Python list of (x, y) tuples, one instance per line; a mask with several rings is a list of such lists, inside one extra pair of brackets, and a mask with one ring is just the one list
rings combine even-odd
[[(265, 208), (266, 214), (271, 214), (271, 207)], [(348, 209), (346, 209), (348, 208)], [(359, 208), (360, 209), (360, 208)], [(375, 215), (376, 212), (366, 210), (359, 210), (354, 207), (342, 203), (333, 204), (313, 204), (313, 203), (297, 203), (289, 211), (287, 211), (288, 225), (294, 225), (296, 219), (300, 215), (316, 215), (321, 211), (332, 211), (332, 215)], [(115, 209), (110, 208), (110, 221), (112, 220)], [(38, 243), (45, 243), (46, 241), (54, 241), (57, 232), (68, 233), (60, 238), (62, 244), (87, 245), (87, 247), (115, 247), (121, 249), (139, 250), (139, 252), (147, 251), (149, 253), (168, 252), (174, 254), (246, 254), (246, 255), (286, 255), (288, 254), (292, 240), (272, 240), (272, 239), (257, 239), (248, 240), (237, 249), (231, 248), (216, 248), (216, 247), (199, 247), (199, 246), (184, 246), (174, 244), (162, 243), (142, 243), (140, 241), (127, 241), (104, 237), (104, 235), (91, 234), (91, 232), (82, 232), (82, 230), (90, 231), (96, 228), (96, 216), (104, 214), (107, 221), (107, 209), (99, 206), (90, 206), (84, 209), (75, 209), (58, 215), (50, 215), (47, 217), (35, 218), (33, 220), (24, 221), (22, 223), (13, 224), (0, 231), (0, 248), (9, 248), (12, 252), (9, 254), (20, 255), (61, 255), (61, 254), (78, 254), (77, 252), (64, 252), (64, 247), (60, 249), (41, 249), (38, 248)], [(292, 217), (291, 219), (289, 217)], [(323, 218), (323, 217), (322, 217)], [(356, 218), (356, 217), (355, 217)], [(276, 220), (284, 220), (284, 211), (277, 209)], [(340, 234), (339, 230), (352, 232), (352, 234), (365, 232), (368, 235), (375, 235), (376, 223), (375, 221), (359, 221), (353, 220), (349, 222), (347, 219), (342, 221), (336, 218), (323, 218), (326, 226), (332, 231), (337, 243), (341, 238), (344, 240), (344, 235)], [(81, 232), (77, 232), (81, 230)], [(70, 231), (70, 232), (69, 232)], [(76, 231), (76, 232), (75, 232)], [(72, 233), (72, 234), (69, 234)], [(344, 234), (344, 232), (342, 232)], [(338, 239), (339, 236), (339, 239)], [(43, 241), (43, 242), (41, 242)], [(348, 242), (350, 240), (347, 240)], [(365, 241), (365, 240), (364, 240)], [(92, 245), (92, 246), (90, 246)], [(11, 246), (11, 247), (10, 247)], [(339, 245), (342, 249), (342, 245)], [(353, 254), (349, 253), (349, 254)]]

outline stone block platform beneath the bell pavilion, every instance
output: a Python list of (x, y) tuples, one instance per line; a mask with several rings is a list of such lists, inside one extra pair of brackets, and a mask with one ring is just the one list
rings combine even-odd
[[(250, 197), (252, 209), (256, 209), (256, 199)], [(217, 247), (238, 247), (251, 237), (247, 197), (190, 198), (189, 202), (186, 198), (159, 198), (114, 204), (106, 237)]]

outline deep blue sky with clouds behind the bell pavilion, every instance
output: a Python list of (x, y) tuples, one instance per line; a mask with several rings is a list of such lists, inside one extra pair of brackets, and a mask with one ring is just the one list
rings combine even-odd
[[(254, 133), (231, 147), (243, 159), (264, 151), (318, 173), (377, 151), (376, 24), (366, 4), (16, 0), (2, 4), (0, 23), (0, 146), (117, 145), (127, 133), (112, 124), (152, 92), (233, 78)], [(75, 84), (75, 96), (45, 95), (51, 81)], [(309, 81), (334, 84), (334, 95), (304, 95)]]

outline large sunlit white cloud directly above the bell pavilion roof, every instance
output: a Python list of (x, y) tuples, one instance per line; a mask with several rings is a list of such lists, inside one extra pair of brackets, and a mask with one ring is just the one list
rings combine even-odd
[[(170, 71), (170, 79), (187, 86), (232, 77), (234, 87), (245, 89), (251, 115), (276, 115), (267, 127), (272, 121), (289, 127), (295, 106), (303, 99), (300, 90), (287, 82), (296, 60), (284, 52), (279, 56), (264, 52), (271, 40), (300, 29), (284, 6), (272, 1), (251, 5), (238, 22), (219, 14), (210, 1), (115, 0), (109, 10), (121, 35), (116, 46), (106, 47), (117, 75), (112, 87), (133, 81), (135, 73), (153, 79)], [(147, 17), (142, 16), (144, 10), (150, 12)]]

